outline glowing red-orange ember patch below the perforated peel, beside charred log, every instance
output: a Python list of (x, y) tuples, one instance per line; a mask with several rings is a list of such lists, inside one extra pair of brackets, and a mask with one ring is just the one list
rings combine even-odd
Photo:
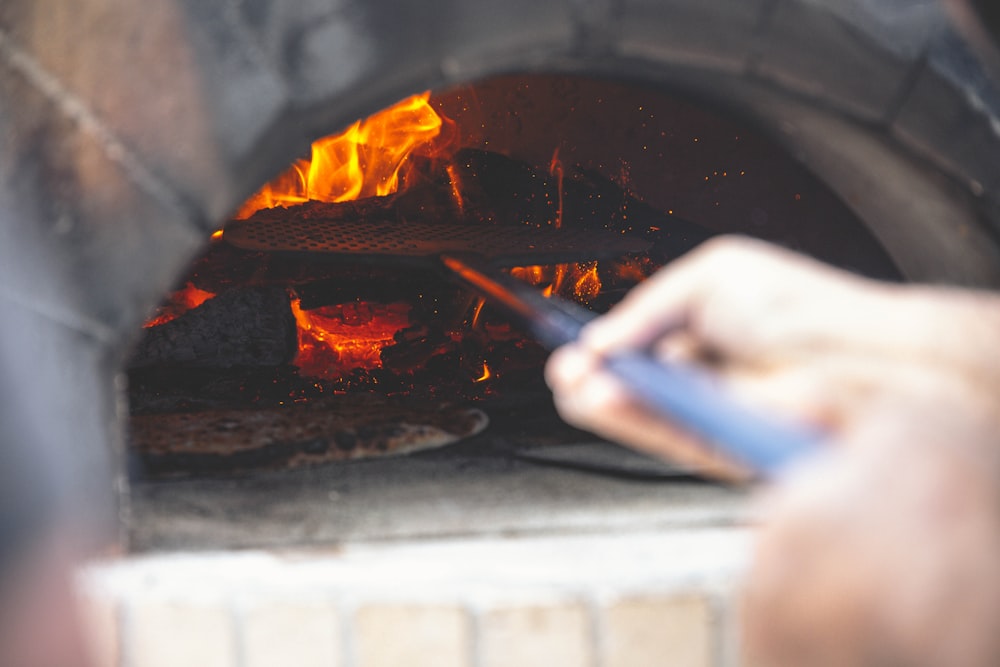
[(347, 303), (302, 310), (292, 300), (299, 327), (295, 365), (303, 375), (339, 379), (355, 369), (382, 367), (383, 348), (410, 325), (405, 303)]

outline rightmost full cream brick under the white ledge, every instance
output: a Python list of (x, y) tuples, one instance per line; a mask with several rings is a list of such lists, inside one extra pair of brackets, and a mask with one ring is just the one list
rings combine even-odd
[(603, 611), (602, 665), (713, 664), (712, 614), (695, 595), (622, 599)]

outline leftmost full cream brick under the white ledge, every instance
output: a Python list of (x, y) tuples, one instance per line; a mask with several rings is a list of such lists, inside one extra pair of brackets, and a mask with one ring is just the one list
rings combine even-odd
[(142, 601), (130, 621), (130, 667), (236, 667), (232, 617), (223, 607)]

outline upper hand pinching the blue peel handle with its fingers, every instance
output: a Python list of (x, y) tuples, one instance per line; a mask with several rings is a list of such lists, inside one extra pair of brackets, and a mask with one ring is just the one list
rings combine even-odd
[[(883, 400), (927, 387), (1000, 388), (995, 297), (865, 280), (761, 242), (721, 238), (636, 287), (553, 354), (547, 379), (568, 421), (723, 478), (745, 478), (632, 399), (603, 356), (652, 349), (704, 366), (737, 400), (843, 439)], [(947, 381), (942, 382), (941, 378)], [(896, 401), (905, 408), (905, 401)]]

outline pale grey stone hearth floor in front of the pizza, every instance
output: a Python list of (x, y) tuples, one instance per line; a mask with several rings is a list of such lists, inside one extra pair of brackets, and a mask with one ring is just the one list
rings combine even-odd
[[(231, 479), (138, 482), (133, 551), (287, 548), (467, 536), (716, 528), (748, 520), (746, 493), (583, 440), (521, 443), (484, 434), (407, 457), (258, 473)], [(611, 458), (629, 473), (540, 465), (520, 455)]]

